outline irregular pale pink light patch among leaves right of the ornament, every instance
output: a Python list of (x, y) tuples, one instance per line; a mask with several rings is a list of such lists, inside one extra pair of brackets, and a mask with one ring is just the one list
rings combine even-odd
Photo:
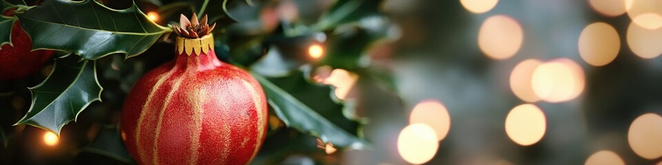
[(359, 75), (348, 72), (345, 69), (333, 69), (331, 75), (323, 80), (326, 85), (333, 85), (336, 87), (334, 94), (339, 99), (350, 98), (354, 84), (359, 80)]

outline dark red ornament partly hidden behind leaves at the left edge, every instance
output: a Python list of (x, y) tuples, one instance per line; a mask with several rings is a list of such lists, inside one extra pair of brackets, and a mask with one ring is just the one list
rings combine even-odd
[(30, 36), (19, 21), (12, 27), (12, 44), (0, 47), (0, 81), (15, 80), (34, 74), (46, 63), (52, 50), (32, 50)]

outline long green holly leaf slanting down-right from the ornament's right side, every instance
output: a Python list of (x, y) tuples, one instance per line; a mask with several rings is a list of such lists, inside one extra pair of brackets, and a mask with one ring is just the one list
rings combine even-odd
[(333, 124), (270, 80), (256, 74), (253, 76), (261, 83), (269, 104), (286, 125), (319, 137), (323, 142), (330, 142), (334, 146), (370, 148), (368, 142)]

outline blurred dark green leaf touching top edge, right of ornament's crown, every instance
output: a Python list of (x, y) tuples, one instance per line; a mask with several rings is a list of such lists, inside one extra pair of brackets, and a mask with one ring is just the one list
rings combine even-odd
[(363, 17), (379, 14), (382, 0), (338, 0), (320, 17), (314, 29), (328, 30), (343, 23), (358, 21)]

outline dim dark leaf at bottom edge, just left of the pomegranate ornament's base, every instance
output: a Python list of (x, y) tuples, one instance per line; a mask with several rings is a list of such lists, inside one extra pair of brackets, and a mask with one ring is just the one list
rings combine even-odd
[(128, 164), (136, 164), (124, 147), (117, 125), (103, 126), (97, 137), (81, 151), (98, 153)]

